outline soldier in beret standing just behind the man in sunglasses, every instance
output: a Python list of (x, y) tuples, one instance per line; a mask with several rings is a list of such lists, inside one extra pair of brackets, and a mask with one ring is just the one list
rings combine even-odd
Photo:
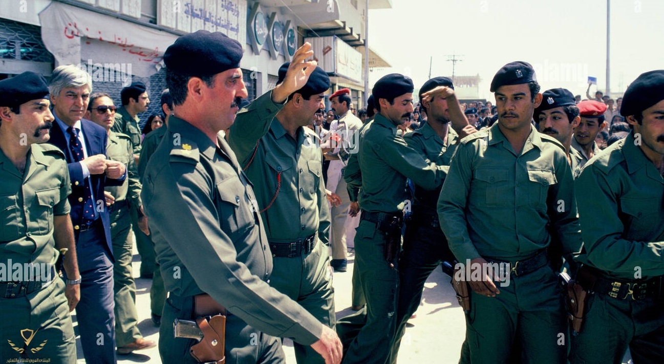
[[(125, 134), (131, 138), (133, 159), (138, 164), (141, 153), (141, 120), (138, 114), (147, 111), (150, 99), (145, 91), (143, 82), (132, 82), (131, 85), (120, 91), (122, 107), (116, 112), (116, 122), (111, 129), (113, 132)], [(131, 230), (136, 236), (136, 248), (141, 256), (141, 278), (153, 278), (155, 271), (155, 249), (152, 240), (140, 228), (140, 219), (143, 213), (139, 209), (131, 209)]]

